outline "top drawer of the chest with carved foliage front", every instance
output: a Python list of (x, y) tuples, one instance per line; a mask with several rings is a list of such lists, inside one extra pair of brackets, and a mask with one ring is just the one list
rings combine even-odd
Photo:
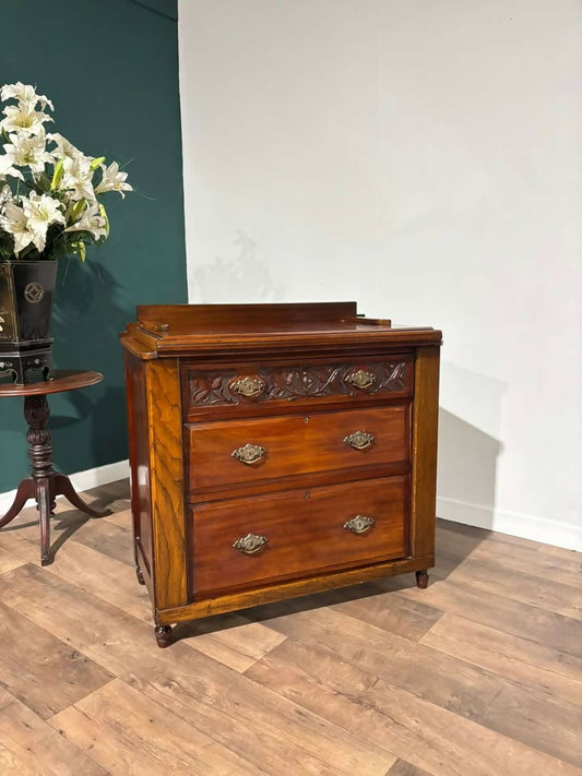
[(411, 353), (383, 359), (299, 365), (181, 368), (185, 418), (222, 408), (257, 413), (257, 406), (286, 411), (289, 405), (399, 398), (413, 392)]

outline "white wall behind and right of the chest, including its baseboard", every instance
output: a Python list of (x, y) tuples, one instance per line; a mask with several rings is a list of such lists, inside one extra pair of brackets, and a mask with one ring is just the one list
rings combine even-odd
[(181, 0), (192, 302), (444, 333), (439, 515), (582, 548), (582, 4)]

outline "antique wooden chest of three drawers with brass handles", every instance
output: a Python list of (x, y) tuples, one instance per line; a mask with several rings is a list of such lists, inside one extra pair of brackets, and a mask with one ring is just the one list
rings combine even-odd
[(143, 306), (121, 334), (138, 578), (176, 622), (433, 564), (441, 333), (354, 302)]

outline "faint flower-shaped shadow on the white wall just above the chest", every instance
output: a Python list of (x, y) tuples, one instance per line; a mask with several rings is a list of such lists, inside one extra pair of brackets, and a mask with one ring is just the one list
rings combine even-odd
[(235, 255), (230, 260), (217, 256), (212, 264), (191, 271), (191, 287), (198, 303), (264, 302), (283, 298), (283, 288), (275, 285), (268, 265), (258, 258), (254, 240), (241, 231), (234, 239)]

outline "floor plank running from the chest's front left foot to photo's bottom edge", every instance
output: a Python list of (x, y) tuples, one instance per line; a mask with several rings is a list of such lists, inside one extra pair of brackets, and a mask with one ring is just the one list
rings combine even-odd
[[(177, 646), (177, 645), (176, 645)], [(277, 647), (278, 648), (278, 647)], [(171, 650), (167, 650), (171, 652)], [(174, 669), (133, 672), (131, 683), (161, 706), (211, 735), (259, 772), (306, 776), (384, 776), (395, 757), (218, 662), (188, 650)]]

